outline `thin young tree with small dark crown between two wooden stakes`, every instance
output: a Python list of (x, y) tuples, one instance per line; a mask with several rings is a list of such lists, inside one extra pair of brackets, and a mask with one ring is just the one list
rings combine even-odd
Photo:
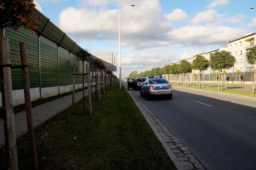
[[(90, 59), (90, 56), (91, 56), (91, 53), (90, 53), (90, 50), (88, 49), (79, 49), (78, 52), (76, 53), (76, 56), (77, 56), (77, 59), (78, 60), (81, 60), (82, 63), (83, 63), (83, 112), (85, 110), (85, 103), (84, 103), (84, 61), (89, 61)], [(87, 73), (89, 74), (89, 73)], [(88, 75), (87, 75), (88, 76)], [(90, 87), (88, 87), (87, 89), (89, 90)], [(88, 93), (88, 95), (90, 95)], [(91, 101), (89, 101), (89, 103), (91, 103)], [(90, 107), (91, 108), (91, 107)], [(92, 111), (90, 110), (90, 115), (92, 115)]]

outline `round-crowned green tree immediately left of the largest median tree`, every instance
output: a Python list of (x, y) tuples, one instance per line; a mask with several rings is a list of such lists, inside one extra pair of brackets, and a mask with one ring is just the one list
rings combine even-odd
[(206, 70), (209, 67), (209, 60), (204, 58), (202, 55), (197, 55), (193, 60), (192, 69), (199, 70), (199, 88), (201, 87), (201, 71)]

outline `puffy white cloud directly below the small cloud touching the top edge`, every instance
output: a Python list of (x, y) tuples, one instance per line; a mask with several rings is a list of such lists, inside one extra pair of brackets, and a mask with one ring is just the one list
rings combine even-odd
[(216, 10), (205, 10), (201, 13), (198, 13), (194, 19), (191, 20), (192, 24), (201, 24), (203, 22), (206, 23), (219, 23), (221, 22), (222, 14), (218, 14)]

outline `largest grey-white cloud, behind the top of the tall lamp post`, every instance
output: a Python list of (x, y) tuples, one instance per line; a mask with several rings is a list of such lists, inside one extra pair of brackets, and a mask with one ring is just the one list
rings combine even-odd
[[(135, 7), (120, 7), (121, 43), (132, 44), (135, 49), (154, 46), (170, 25), (160, 18), (159, 1), (138, 1)], [(79, 40), (118, 40), (118, 8), (88, 9), (68, 7), (59, 14), (58, 26)]]

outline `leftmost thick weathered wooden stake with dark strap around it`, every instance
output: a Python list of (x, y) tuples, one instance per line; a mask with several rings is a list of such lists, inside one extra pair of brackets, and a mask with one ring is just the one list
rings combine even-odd
[(4, 74), (4, 86), (5, 86), (5, 108), (6, 108), (6, 122), (7, 122), (8, 142), (9, 142), (10, 166), (12, 170), (16, 170), (18, 169), (18, 158), (17, 158), (17, 145), (16, 145), (12, 82), (11, 82), (10, 43), (9, 43), (8, 37), (2, 38), (2, 45), (3, 45), (2, 54), (3, 54), (3, 65), (4, 65), (3, 74)]

